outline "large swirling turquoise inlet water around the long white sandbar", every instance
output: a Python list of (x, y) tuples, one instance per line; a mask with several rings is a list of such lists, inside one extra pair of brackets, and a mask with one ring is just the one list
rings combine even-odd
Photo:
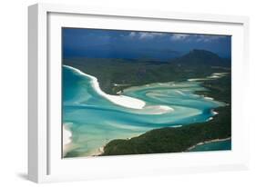
[[(63, 66), (63, 123), (72, 133), (69, 152), (93, 155), (114, 139), (208, 121), (212, 110), (224, 103), (193, 94), (205, 90), (200, 83), (189, 81), (130, 87), (123, 94), (146, 103), (143, 109), (132, 109), (110, 102), (97, 93), (91, 77)], [(159, 105), (172, 110), (162, 113)]]

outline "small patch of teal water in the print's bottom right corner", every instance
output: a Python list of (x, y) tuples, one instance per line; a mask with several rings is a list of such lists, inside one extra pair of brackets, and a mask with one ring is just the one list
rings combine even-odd
[(200, 152), (200, 151), (221, 151), (231, 150), (231, 140), (225, 140), (215, 143), (204, 143), (197, 145), (195, 148), (189, 150), (189, 152)]

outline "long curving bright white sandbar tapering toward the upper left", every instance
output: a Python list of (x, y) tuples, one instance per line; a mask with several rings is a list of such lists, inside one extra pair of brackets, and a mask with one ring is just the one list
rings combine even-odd
[(71, 67), (68, 65), (64, 65), (64, 66), (76, 71), (78, 74), (82, 74), (82, 75), (89, 77), (92, 81), (92, 85), (93, 85), (94, 89), (96, 90), (97, 94), (100, 94), (101, 96), (105, 97), (106, 99), (108, 99), (108, 101), (110, 101), (112, 103), (116, 103), (118, 105), (121, 105), (121, 106), (124, 106), (127, 108), (133, 108), (133, 109), (142, 109), (146, 104), (144, 101), (141, 101), (137, 98), (132, 98), (132, 97), (128, 97), (125, 95), (106, 94), (100, 89), (96, 77), (89, 75), (89, 74), (85, 74), (74, 67)]

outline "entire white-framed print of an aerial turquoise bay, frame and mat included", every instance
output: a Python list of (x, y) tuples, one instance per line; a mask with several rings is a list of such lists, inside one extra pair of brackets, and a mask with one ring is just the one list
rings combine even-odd
[(248, 168), (247, 17), (29, 7), (29, 179)]

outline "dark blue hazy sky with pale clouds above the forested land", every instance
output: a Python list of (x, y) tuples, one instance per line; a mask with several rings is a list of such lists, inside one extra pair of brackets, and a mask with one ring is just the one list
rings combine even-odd
[(168, 60), (204, 49), (230, 57), (231, 37), (138, 31), (63, 28), (63, 56)]

